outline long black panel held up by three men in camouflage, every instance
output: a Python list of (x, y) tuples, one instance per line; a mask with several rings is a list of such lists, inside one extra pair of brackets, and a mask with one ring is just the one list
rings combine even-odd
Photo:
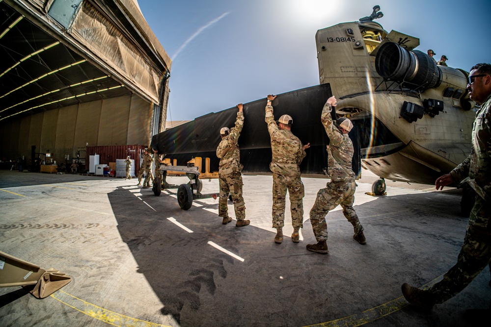
[[(328, 83), (280, 94), (273, 101), (274, 117), (283, 114), (293, 118), (292, 132), (303, 144), (310, 143), (306, 150), (300, 170), (303, 176), (324, 176), (323, 168), (327, 165), (326, 145), (329, 144), (324, 126), (321, 123), (321, 112), (327, 99), (331, 97)], [(271, 174), (271, 144), (268, 127), (264, 121), (266, 98), (244, 104), (244, 127), (239, 138), (241, 163), (246, 174)], [(166, 158), (177, 159), (178, 165), (184, 165), (195, 156), (209, 157), (211, 171), (218, 171), (216, 150), (220, 142), (221, 127), (234, 126), (237, 107), (205, 116), (162, 133), (154, 135), (151, 147), (156, 146), (159, 153)], [(360, 148), (358, 128), (350, 132), (355, 146), (353, 170), (360, 172)]]

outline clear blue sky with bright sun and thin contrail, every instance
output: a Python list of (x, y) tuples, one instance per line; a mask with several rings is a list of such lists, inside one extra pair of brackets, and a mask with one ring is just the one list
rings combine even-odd
[(385, 30), (469, 71), (491, 62), (491, 0), (139, 0), (173, 59), (167, 120), (192, 120), (319, 84), (315, 33), (380, 5)]

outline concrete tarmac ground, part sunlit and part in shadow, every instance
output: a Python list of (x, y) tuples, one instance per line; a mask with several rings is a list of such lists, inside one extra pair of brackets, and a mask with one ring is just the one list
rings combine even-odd
[[(300, 243), (287, 198), (275, 244), (271, 176), (243, 177), (251, 225), (239, 228), (221, 224), (218, 200), (181, 210), (177, 190), (157, 197), (136, 179), (0, 171), (0, 250), (73, 278), (43, 300), (1, 288), (1, 326), (469, 326), (465, 310), (490, 304), (487, 268), (431, 312), (401, 293), (455, 264), (467, 225), (460, 197), (389, 181), (387, 195), (372, 197), (376, 176), (363, 175), (355, 210), (367, 244), (353, 240), (338, 207), (323, 255), (305, 246), (315, 243), (308, 213), (326, 179), (302, 178)], [(215, 192), (218, 180), (204, 180), (202, 193)]]

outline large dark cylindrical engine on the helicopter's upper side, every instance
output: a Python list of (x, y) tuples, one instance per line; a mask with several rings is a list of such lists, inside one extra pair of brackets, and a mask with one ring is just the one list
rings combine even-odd
[(418, 91), (437, 87), (442, 79), (441, 70), (429, 55), (419, 50), (408, 51), (393, 42), (380, 47), (375, 69), (383, 78)]

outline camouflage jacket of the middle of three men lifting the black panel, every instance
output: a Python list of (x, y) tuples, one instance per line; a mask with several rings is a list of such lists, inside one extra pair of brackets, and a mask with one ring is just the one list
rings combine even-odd
[(270, 170), (283, 176), (300, 176), (300, 163), (306, 153), (300, 139), (288, 129), (279, 129), (274, 121), (273, 106), (266, 106), (268, 131), (271, 137), (271, 151), (273, 153)]

